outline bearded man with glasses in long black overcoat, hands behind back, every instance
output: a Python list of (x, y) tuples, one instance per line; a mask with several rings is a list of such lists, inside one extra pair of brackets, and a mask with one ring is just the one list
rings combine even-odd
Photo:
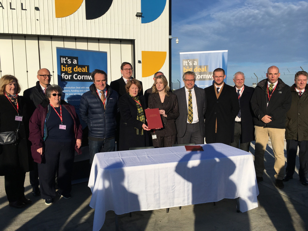
[(225, 84), (225, 70), (213, 71), (214, 84), (206, 87), (205, 143), (230, 144), (234, 137), (234, 121), (240, 111), (234, 88)]

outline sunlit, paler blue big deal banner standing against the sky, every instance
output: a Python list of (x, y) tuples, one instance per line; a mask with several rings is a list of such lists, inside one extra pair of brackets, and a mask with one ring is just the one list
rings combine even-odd
[[(213, 84), (213, 71), (222, 68), (227, 75), (228, 51), (197, 51), (180, 52), (180, 74), (186, 71), (196, 73), (195, 85), (201, 88), (209, 87)], [(226, 82), (226, 79), (224, 80)], [(184, 82), (180, 81), (181, 87)]]

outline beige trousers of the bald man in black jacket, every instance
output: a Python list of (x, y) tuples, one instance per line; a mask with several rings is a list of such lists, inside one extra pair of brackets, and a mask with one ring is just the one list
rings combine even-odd
[(254, 168), (256, 170), (256, 176), (261, 177), (264, 172), (264, 152), (267, 142), (272, 142), (273, 152), (275, 156), (275, 179), (282, 180), (284, 176), (285, 168), (285, 155), (284, 155), (284, 136), (285, 130), (281, 128), (263, 128), (254, 126), (256, 137), (256, 145), (254, 152)]

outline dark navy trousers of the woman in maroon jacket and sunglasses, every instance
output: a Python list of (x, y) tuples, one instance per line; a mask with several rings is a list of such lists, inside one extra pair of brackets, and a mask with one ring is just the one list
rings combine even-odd
[(71, 174), (75, 157), (75, 142), (45, 141), (42, 164), (39, 167), (39, 184), (42, 199), (56, 197), (55, 175), (58, 170), (58, 187), (61, 195), (71, 193)]

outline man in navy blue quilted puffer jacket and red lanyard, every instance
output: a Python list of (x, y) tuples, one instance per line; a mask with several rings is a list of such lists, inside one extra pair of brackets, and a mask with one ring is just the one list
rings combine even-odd
[(105, 71), (95, 69), (91, 73), (93, 84), (80, 100), (79, 114), (88, 125), (90, 165), (95, 153), (115, 150), (115, 130), (118, 93), (107, 84)]

